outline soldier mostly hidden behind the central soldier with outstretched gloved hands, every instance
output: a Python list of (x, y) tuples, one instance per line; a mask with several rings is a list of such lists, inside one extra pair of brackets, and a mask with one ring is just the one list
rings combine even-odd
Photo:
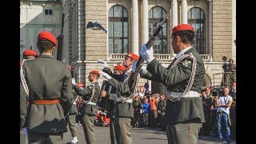
[[(118, 65), (118, 66), (114, 66), (114, 74), (123, 74), (126, 71), (126, 66), (122, 66), (122, 65)], [(115, 94), (116, 93), (116, 89), (112, 86), (109, 86), (110, 93), (108, 94)], [(105, 107), (108, 108), (107, 110), (107, 114), (106, 114), (106, 118), (110, 118), (110, 142), (111, 144), (117, 144), (117, 138), (116, 138), (116, 134), (115, 134), (115, 130), (114, 130), (114, 100), (111, 99), (109, 96), (106, 96), (106, 90), (102, 90), (102, 102), (106, 102)]]

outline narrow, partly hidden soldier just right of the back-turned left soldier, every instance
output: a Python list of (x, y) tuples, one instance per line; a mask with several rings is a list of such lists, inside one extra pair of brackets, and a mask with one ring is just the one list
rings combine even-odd
[[(78, 82), (77, 85), (81, 89), (83, 89), (83, 84), (81, 82)], [(74, 92), (74, 96), (75, 96), (75, 100), (67, 114), (67, 122), (69, 124), (70, 133), (72, 136), (72, 140), (69, 142), (70, 144), (78, 143), (78, 130), (77, 130), (75, 122), (76, 122), (76, 118), (78, 115), (77, 101), (78, 101), (79, 95)]]

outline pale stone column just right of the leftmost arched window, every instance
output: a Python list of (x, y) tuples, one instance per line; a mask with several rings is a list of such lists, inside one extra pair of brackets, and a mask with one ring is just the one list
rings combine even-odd
[(132, 0), (131, 52), (138, 54), (138, 0)]

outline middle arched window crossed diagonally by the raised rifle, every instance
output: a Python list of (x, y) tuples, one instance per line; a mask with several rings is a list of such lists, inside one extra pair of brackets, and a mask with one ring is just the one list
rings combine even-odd
[[(163, 18), (166, 18), (166, 10), (160, 6), (154, 6), (149, 12), (149, 38), (154, 30), (158, 27)], [(158, 34), (157, 40), (154, 42), (154, 54), (167, 54), (167, 28), (166, 23)]]

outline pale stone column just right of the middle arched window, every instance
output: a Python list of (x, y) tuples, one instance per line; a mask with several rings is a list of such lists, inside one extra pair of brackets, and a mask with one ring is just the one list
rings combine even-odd
[[(173, 29), (174, 26), (178, 25), (178, 3), (177, 0), (171, 1), (171, 16), (170, 16), (170, 29)], [(174, 50), (170, 49), (170, 54), (174, 55)]]

